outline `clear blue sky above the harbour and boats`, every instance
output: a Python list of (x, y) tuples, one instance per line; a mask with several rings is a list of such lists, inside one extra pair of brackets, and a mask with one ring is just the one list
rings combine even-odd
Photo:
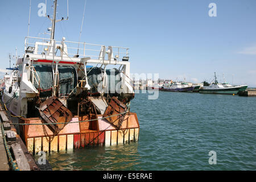
[[(32, 0), (30, 36), (50, 27), (38, 16)], [(217, 17), (209, 17), (209, 3)], [(57, 18), (67, 16), (67, 1), (58, 1)], [(52, 11), (47, 1), (47, 14)], [(69, 20), (57, 23), (55, 38), (78, 41), (84, 0), (69, 0)], [(29, 0), (2, 1), (0, 6), (1, 70), (9, 67), (9, 52), (23, 53)], [(130, 48), (131, 73), (159, 73), (160, 78), (212, 80), (256, 86), (255, 0), (87, 0), (81, 42)]]

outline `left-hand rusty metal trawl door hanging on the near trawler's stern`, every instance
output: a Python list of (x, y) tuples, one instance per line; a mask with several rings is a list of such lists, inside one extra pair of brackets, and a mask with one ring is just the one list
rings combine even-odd
[(59, 125), (47, 125), (53, 133), (59, 133), (73, 118), (71, 111), (57, 97), (49, 97), (44, 101), (40, 105), (39, 113), (46, 123), (63, 123)]

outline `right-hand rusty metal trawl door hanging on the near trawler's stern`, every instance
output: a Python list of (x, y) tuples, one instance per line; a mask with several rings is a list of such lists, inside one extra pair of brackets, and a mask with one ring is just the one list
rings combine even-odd
[[(105, 110), (103, 117), (108, 117), (111, 115), (120, 114), (127, 111), (127, 107), (121, 101), (117, 99), (117, 97), (112, 97), (109, 106)], [(122, 126), (123, 119), (125, 118), (125, 114), (116, 115), (113, 117), (106, 118), (106, 120), (118, 129)]]

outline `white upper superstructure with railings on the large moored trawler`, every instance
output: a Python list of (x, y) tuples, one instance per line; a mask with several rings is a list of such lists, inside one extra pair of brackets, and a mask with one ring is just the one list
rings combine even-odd
[[(35, 42), (32, 43), (33, 41)], [(69, 53), (67, 43), (74, 44), (74, 47), (81, 44), (84, 48), (79, 48), (79, 54), (76, 54), (72, 53), (71, 47), (71, 53)], [(97, 49), (93, 49), (98, 55), (87, 55), (87, 46), (100, 48), (98, 52)], [(11, 71), (10, 80), (6, 82), (5, 94), (3, 95), (3, 101), (6, 102), (13, 97), (14, 93), (16, 94), (14, 97), (16, 100), (19, 100), (20, 105), (13, 110), (10, 109), (11, 112), (16, 115), (27, 117), (29, 112), (27, 107), (31, 105), (30, 100), (35, 100), (37, 97), (44, 100), (44, 98), (50, 96), (57, 96), (61, 99), (69, 100), (71, 97), (79, 96), (84, 91), (90, 93), (93, 89), (95, 96), (108, 96), (111, 95), (111, 91), (112, 94), (119, 92), (119, 97), (133, 97), (133, 86), (131, 86), (130, 78), (128, 77), (130, 74), (128, 48), (68, 42), (65, 41), (65, 39), (61, 42), (57, 42), (55, 40), (51, 41), (51, 39), (34, 37), (26, 37), (25, 47), (24, 57), (18, 59), (16, 64), (17, 68)], [(117, 55), (115, 57), (113, 56), (113, 49), (117, 49)], [(89, 50), (92, 52), (92, 49)], [(123, 50), (125, 51), (125, 56), (120, 59), (119, 56)], [(56, 53), (57, 51), (59, 51), (59, 55)], [(106, 59), (105, 55), (108, 56)], [(90, 65), (89, 69), (88, 65)], [(118, 65), (119, 68), (108, 69), (109, 65)], [(93, 83), (91, 84), (89, 82), (90, 80), (88, 81), (87, 74), (90, 70), (94, 72), (98, 71), (98, 80), (102, 80), (98, 83), (97, 88), (93, 88), (95, 85), (92, 86)], [(70, 90), (71, 92), (69, 93), (61, 92), (61, 87), (63, 86), (64, 88), (67, 86), (67, 84), (63, 84), (60, 80), (61, 78), (65, 80), (65, 71), (72, 72), (72, 76), (67, 76), (67, 79), (71, 78), (72, 83), (76, 81), (76, 83), (73, 83), (72, 87), (74, 90)], [(115, 72), (119, 74), (118, 77), (121, 80), (119, 83), (120, 87), (118, 90), (115, 88), (114, 90), (109, 90), (111, 88), (109, 88), (108, 84), (110, 84), (110, 79), (112, 78), (110, 75), (113, 74), (113, 76), (116, 77), (117, 74)], [(52, 78), (51, 82), (47, 80), (47, 77), (43, 76)], [(44, 88), (44, 85), (47, 84), (49, 84), (49, 88)], [(48, 89), (49, 92), (46, 93), (45, 89)], [(9, 90), (11, 90), (11, 92)], [(9, 105), (6, 106), (9, 108)]]

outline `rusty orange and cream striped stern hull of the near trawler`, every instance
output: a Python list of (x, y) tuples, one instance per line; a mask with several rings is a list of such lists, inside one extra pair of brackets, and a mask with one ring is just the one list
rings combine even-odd
[[(57, 135), (43, 125), (21, 125), (19, 130), (28, 151), (32, 154), (38, 154), (39, 151), (73, 150), (86, 146), (115, 146), (136, 142), (139, 139), (136, 113), (126, 114), (119, 129), (106, 119), (101, 119), (102, 116), (75, 116)], [(40, 118), (19, 118), (19, 122), (43, 123)]]

